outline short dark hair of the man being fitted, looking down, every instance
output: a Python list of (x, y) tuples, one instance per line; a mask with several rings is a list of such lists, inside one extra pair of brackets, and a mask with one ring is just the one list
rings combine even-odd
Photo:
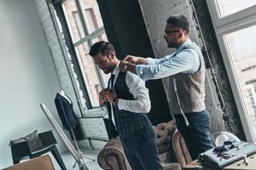
[(90, 48), (90, 56), (95, 57), (97, 54), (108, 55), (110, 51), (113, 51), (115, 54), (115, 50), (113, 45), (110, 42), (96, 42)]

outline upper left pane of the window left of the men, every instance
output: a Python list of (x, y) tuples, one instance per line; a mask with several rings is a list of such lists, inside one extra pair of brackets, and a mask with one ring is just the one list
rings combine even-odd
[(76, 7), (74, 0), (67, 0), (63, 3), (62, 8), (65, 13), (73, 43), (77, 42), (84, 37), (84, 29), (79, 18), (78, 8)]

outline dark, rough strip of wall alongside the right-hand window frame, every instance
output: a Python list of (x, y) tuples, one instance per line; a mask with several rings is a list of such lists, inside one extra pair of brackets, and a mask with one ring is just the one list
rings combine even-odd
[[(222, 114), (224, 127), (226, 130), (235, 133), (240, 139), (245, 140), (246, 138), (241, 126), (241, 119), (236, 108), (236, 102), (233, 93), (231, 91), (230, 81), (224, 67), (224, 61), (220, 54), (220, 50), (218, 45), (216, 45), (218, 42), (213, 30), (212, 21), (209, 20), (210, 14), (207, 8), (207, 2), (193, 0), (193, 3), (195, 6), (195, 13), (193, 13), (193, 16), (196, 14), (199, 19), (201, 31), (205, 42), (207, 43), (207, 48), (213, 65), (212, 74), (217, 77), (220, 92), (224, 98), (225, 108)], [(214, 84), (214, 88), (217, 88), (216, 82), (214, 82)]]

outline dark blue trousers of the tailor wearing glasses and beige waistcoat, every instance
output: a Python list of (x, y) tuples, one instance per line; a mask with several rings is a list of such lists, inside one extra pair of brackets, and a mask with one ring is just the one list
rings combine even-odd
[(186, 113), (185, 115), (188, 118), (189, 127), (186, 126), (181, 114), (174, 116), (177, 129), (183, 135), (190, 156), (195, 160), (199, 154), (212, 148), (210, 114), (205, 110)]

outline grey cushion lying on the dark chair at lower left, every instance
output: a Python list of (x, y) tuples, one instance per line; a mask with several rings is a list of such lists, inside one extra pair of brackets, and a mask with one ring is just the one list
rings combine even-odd
[(38, 150), (44, 145), (41, 139), (38, 137), (38, 130), (35, 130), (34, 132), (29, 133), (25, 137), (21, 137), (20, 139), (11, 140), (9, 144), (18, 144), (20, 142), (27, 142), (31, 152)]

